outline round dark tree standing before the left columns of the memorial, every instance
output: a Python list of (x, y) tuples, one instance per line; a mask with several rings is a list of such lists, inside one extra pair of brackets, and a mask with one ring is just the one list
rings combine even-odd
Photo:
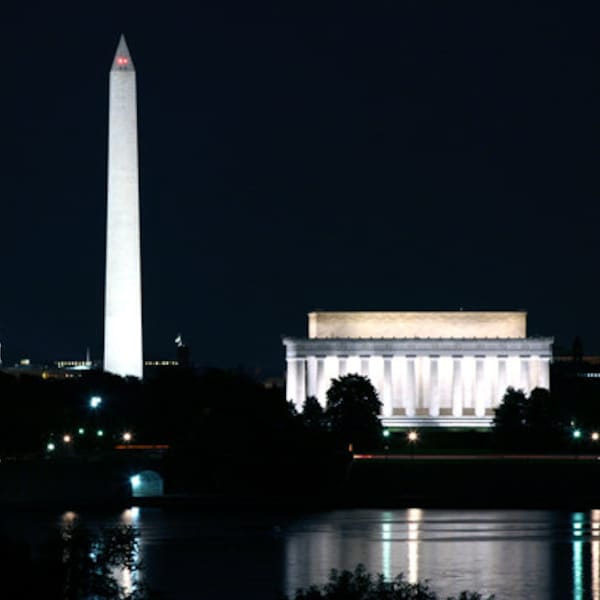
[(345, 444), (368, 447), (379, 444), (381, 402), (368, 377), (349, 374), (331, 380), (325, 420)]

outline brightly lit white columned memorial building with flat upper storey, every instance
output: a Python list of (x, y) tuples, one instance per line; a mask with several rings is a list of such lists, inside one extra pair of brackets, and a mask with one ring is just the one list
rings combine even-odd
[(331, 379), (368, 377), (386, 426), (486, 427), (507, 387), (549, 388), (552, 338), (527, 313), (313, 312), (308, 338), (284, 338), (287, 399), (326, 404)]

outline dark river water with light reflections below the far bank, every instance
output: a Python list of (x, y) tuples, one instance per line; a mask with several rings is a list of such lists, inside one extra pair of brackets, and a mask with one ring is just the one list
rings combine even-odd
[(0, 531), (35, 548), (75, 517), (139, 528), (143, 577), (175, 600), (277, 598), (358, 563), (429, 579), (444, 598), (469, 589), (497, 600), (600, 600), (600, 510), (17, 511)]

